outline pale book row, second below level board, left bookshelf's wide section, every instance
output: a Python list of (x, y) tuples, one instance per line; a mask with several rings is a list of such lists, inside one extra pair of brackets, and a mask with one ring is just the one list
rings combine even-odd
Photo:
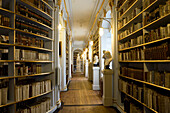
[(51, 80), (41, 82), (21, 80), (15, 86), (16, 101), (21, 101), (51, 91)]

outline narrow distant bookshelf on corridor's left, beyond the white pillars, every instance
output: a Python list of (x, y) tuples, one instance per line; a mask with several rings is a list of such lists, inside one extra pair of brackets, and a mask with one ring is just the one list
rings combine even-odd
[(69, 35), (66, 33), (66, 82), (68, 83), (69, 73)]

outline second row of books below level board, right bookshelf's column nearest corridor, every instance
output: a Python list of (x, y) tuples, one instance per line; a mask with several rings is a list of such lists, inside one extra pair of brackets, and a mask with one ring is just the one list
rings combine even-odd
[(141, 86), (119, 79), (119, 90), (133, 96), (141, 102), (144, 101), (144, 89)]

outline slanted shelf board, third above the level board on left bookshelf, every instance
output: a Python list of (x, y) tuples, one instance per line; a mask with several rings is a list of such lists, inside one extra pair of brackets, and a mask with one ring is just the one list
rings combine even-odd
[(45, 24), (43, 24), (43, 23), (41, 23), (41, 22), (38, 22), (38, 21), (36, 21), (36, 20), (34, 20), (34, 19), (32, 19), (32, 18), (29, 18), (29, 17), (24, 16), (24, 15), (19, 14), (19, 13), (15, 13), (15, 14), (16, 14), (18, 17), (21, 17), (21, 18), (24, 18), (24, 19), (26, 19), (26, 20), (35, 22), (35, 23), (37, 23), (38, 25), (41, 25), (41, 26), (43, 26), (43, 27), (45, 27), (45, 28), (47, 28), (47, 29), (53, 30), (51, 27), (49, 27), (49, 26), (47, 26), (47, 25), (45, 25)]

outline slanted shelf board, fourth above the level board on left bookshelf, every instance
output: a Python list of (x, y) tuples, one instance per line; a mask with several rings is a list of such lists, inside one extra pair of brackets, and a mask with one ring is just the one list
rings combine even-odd
[(48, 19), (51, 19), (51, 20), (53, 19), (53, 17), (51, 17), (51, 15), (47, 14), (46, 12), (42, 11), (41, 9), (39, 9), (39, 8), (35, 7), (34, 5), (30, 4), (26, 0), (19, 0), (17, 2), (19, 2), (22, 5), (25, 5), (26, 7), (30, 8), (30, 9), (35, 10), (37, 13), (43, 14)]

